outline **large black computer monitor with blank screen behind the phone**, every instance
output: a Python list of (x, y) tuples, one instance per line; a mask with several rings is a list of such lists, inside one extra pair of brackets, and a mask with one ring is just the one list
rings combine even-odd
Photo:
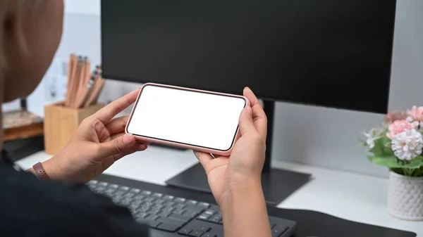
[[(231, 94), (248, 86), (263, 99), (270, 203), (280, 197), (266, 190), (281, 180), (270, 168), (274, 101), (387, 111), (396, 0), (102, 0), (101, 7), (104, 78)], [(183, 175), (179, 186), (207, 189), (183, 184)]]

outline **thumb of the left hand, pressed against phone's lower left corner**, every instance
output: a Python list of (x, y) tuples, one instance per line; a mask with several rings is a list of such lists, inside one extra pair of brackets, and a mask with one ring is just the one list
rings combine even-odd
[(133, 134), (125, 134), (118, 136), (116, 139), (100, 143), (99, 154), (101, 158), (105, 158), (109, 155), (116, 155), (121, 153), (123, 150), (135, 143), (135, 136)]

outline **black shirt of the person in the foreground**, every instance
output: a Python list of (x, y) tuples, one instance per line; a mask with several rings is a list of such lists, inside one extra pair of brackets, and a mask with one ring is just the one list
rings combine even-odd
[(39, 180), (0, 159), (0, 236), (137, 236), (148, 228), (85, 184)]

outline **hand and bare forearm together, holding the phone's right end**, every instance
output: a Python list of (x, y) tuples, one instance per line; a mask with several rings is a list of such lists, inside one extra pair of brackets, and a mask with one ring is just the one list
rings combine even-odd
[(195, 152), (204, 167), (209, 186), (221, 209), (225, 236), (271, 236), (261, 184), (266, 150), (267, 119), (256, 96), (248, 88), (250, 106), (240, 115), (240, 139), (230, 157), (213, 158)]

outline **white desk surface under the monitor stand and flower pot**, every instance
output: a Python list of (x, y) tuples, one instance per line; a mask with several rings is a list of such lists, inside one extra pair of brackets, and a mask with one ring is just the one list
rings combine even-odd
[[(18, 164), (27, 169), (49, 157), (39, 152), (18, 161)], [(191, 150), (150, 146), (143, 152), (119, 160), (105, 174), (164, 185), (167, 179), (195, 162), (197, 159)], [(274, 161), (273, 164), (274, 167), (312, 174), (311, 181), (278, 207), (316, 210), (355, 222), (412, 231), (419, 237), (423, 236), (423, 222), (402, 221), (386, 212), (388, 179), (288, 162)]]

